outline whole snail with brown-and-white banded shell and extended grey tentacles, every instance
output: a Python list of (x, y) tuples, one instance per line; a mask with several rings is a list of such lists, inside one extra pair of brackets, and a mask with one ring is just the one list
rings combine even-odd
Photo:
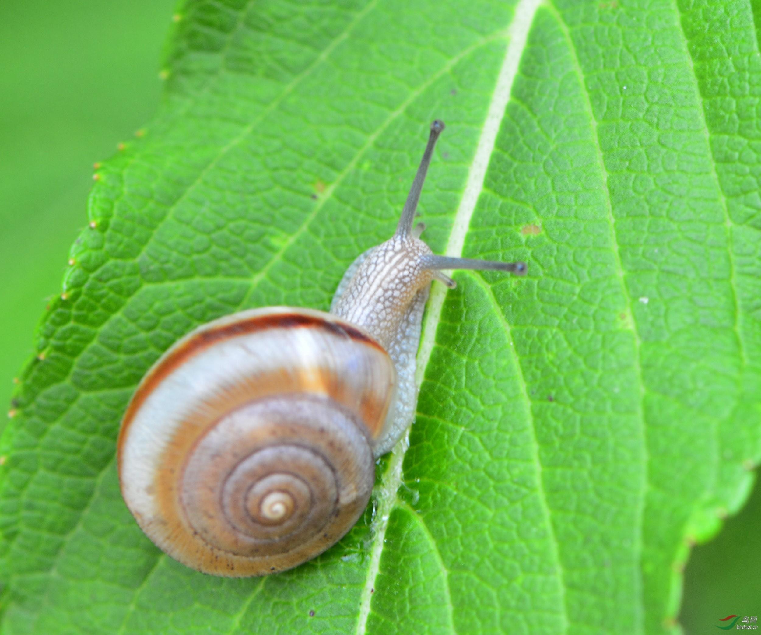
[(123, 498), (158, 547), (217, 576), (321, 554), (368, 505), (377, 457), (414, 417), (416, 352), (442, 270), (524, 263), (438, 256), (412, 227), (444, 123), (434, 121), (396, 233), (349, 266), (330, 313), (267, 307), (181, 338), (140, 382), (119, 430)]

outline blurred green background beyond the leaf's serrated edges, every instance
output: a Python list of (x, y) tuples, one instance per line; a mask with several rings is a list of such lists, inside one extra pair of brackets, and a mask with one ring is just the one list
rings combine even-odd
[[(86, 222), (94, 161), (150, 120), (175, 0), (0, 2), (0, 404)], [(8, 407), (10, 407), (8, 405)], [(2, 427), (2, 426), (0, 426)], [(761, 488), (685, 572), (680, 622), (761, 617)]]

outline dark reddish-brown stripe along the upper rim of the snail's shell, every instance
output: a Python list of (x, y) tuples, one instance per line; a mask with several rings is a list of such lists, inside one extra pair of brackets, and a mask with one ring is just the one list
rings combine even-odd
[[(328, 315), (328, 314), (326, 314)], [(224, 318), (222, 318), (224, 319)], [(213, 324), (213, 323), (212, 323)], [(372, 337), (367, 333), (362, 332), (358, 328), (343, 321), (339, 321), (339, 318), (326, 319), (320, 315), (305, 314), (298, 310), (283, 311), (282, 313), (255, 315), (251, 318), (247, 318), (242, 321), (235, 321), (233, 323), (222, 323), (218, 326), (202, 327), (202, 330), (191, 332), (183, 339), (179, 340), (173, 347), (167, 350), (158, 362), (156, 362), (148, 373), (142, 378), (135, 394), (132, 395), (132, 400), (129, 402), (126, 413), (124, 414), (121, 428), (119, 429), (119, 439), (116, 444), (116, 461), (119, 465), (119, 472), (121, 471), (122, 455), (124, 440), (126, 439), (126, 433), (129, 426), (132, 424), (135, 413), (139, 410), (148, 395), (154, 391), (154, 388), (164, 378), (167, 377), (174, 369), (180, 364), (202, 353), (205, 349), (212, 346), (212, 344), (221, 342), (223, 340), (231, 339), (239, 335), (248, 333), (255, 333), (260, 330), (268, 330), (274, 328), (317, 328), (323, 327), (326, 330), (330, 330), (336, 334), (343, 334), (352, 340), (356, 340), (361, 343), (368, 344), (374, 348), (383, 351), (385, 349), (380, 346)], [(377, 404), (368, 403), (366, 406), (363, 404), (363, 415), (379, 413), (384, 408), (378, 407)], [(376, 414), (377, 416), (377, 414)], [(385, 416), (384, 416), (385, 418)], [(373, 419), (365, 419), (365, 421), (372, 421)], [(382, 426), (382, 420), (381, 420)], [(372, 430), (373, 436), (377, 436), (380, 432), (378, 430)]]

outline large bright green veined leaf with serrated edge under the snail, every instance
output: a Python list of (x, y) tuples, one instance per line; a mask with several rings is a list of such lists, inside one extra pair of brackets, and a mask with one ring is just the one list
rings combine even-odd
[[(761, 460), (754, 8), (187, 2), (2, 438), (3, 632), (676, 630)], [(165, 557), (113, 461), (137, 381), (222, 314), (327, 308), (435, 116), (426, 239), (529, 275), (435, 286), (409, 448), (336, 547), (265, 579)]]

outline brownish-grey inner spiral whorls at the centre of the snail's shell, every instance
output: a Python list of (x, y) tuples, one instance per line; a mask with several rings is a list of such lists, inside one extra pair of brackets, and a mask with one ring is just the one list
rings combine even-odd
[(354, 525), (373, 478), (361, 427), (328, 400), (291, 395), (221, 420), (196, 444), (177, 487), (186, 522), (211, 547), (269, 557), (266, 569), (282, 570)]

